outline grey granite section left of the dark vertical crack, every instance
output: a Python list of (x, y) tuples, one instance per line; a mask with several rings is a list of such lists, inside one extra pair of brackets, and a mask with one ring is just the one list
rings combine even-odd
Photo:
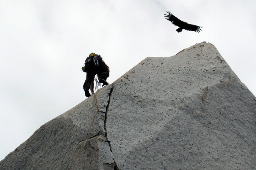
[(105, 87), (97, 92), (97, 98), (92, 96), (42, 125), (0, 162), (0, 169), (71, 169), (78, 153), (73, 170), (114, 169), (104, 124), (110, 90), (111, 86)]

